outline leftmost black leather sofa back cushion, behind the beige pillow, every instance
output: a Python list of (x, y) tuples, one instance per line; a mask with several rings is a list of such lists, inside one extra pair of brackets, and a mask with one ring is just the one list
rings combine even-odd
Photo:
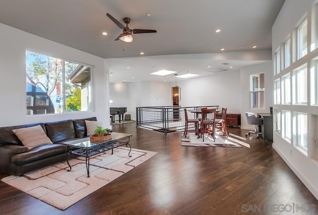
[(45, 131), (44, 123), (35, 123), (21, 126), (8, 126), (0, 128), (0, 146), (7, 144), (23, 145), (18, 137), (12, 132), (14, 129), (28, 128), (32, 126), (40, 125)]

